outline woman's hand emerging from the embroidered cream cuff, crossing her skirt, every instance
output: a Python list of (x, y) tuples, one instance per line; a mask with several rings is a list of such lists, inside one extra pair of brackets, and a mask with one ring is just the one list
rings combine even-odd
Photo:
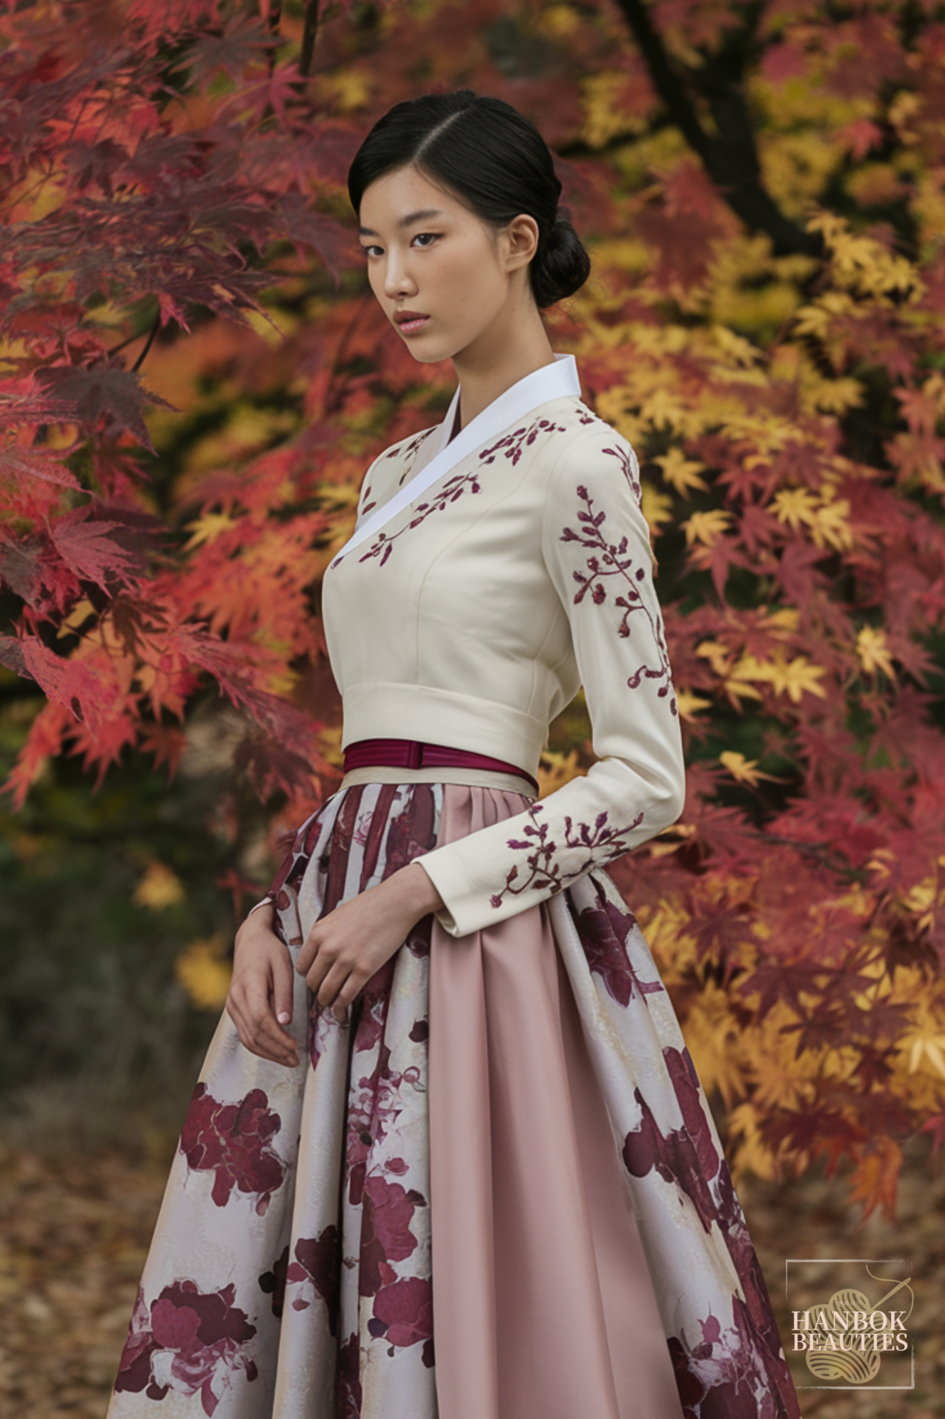
[(442, 905), (424, 868), (411, 863), (316, 921), (295, 968), (319, 1003), (332, 1006), (343, 1022), (361, 986), (390, 961), (421, 917)]

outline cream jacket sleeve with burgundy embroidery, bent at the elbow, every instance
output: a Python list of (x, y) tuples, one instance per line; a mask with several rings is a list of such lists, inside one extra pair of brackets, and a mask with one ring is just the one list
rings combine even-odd
[(683, 810), (679, 711), (639, 498), (633, 450), (596, 420), (550, 478), (543, 555), (570, 623), (598, 762), (516, 817), (421, 858), (453, 937), (547, 900)]

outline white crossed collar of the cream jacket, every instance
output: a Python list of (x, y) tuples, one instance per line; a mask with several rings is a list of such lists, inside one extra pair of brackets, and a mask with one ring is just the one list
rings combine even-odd
[(530, 414), (533, 409), (547, 404), (553, 399), (562, 399), (568, 394), (579, 399), (581, 380), (578, 379), (578, 366), (574, 355), (555, 355), (554, 365), (543, 365), (541, 369), (536, 369), (531, 375), (526, 375), (524, 379), (517, 380), (504, 393), (499, 394), (497, 399), (493, 399), (482, 413), (470, 419), (456, 437), (451, 440), (449, 434), (455, 426), (456, 410), (459, 409), (459, 394), (460, 389), (458, 386), (452, 403), (446, 410), (446, 417), (439, 426), (434, 457), (392, 498), (356, 526), (344, 546), (334, 553), (332, 566), (337, 566), (343, 556), (380, 532), (398, 512), (415, 502), (431, 484), (442, 478), (445, 473), (455, 468), (458, 463), (462, 463), (463, 458), (475, 453), (476, 448), (480, 448), (494, 434), (502, 433), (503, 429), (509, 429), (510, 424)]

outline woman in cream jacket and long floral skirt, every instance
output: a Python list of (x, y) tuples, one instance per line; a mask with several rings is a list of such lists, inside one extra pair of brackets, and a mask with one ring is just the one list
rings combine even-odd
[[(551, 155), (497, 99), (426, 96), (349, 187), (394, 331), (459, 389), (326, 575), (344, 779), (239, 928), (111, 1415), (793, 1416), (602, 870), (684, 769), (636, 458), (540, 315), (589, 270)], [(538, 803), (579, 683), (598, 762)]]

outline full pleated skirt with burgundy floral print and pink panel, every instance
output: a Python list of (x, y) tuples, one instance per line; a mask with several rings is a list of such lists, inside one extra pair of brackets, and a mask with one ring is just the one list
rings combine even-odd
[[(312, 924), (521, 795), (361, 785), (273, 884)], [(289, 1070), (222, 1016), (109, 1419), (793, 1419), (768, 1293), (676, 1016), (605, 873), (455, 939), (350, 1022), (296, 978)]]

